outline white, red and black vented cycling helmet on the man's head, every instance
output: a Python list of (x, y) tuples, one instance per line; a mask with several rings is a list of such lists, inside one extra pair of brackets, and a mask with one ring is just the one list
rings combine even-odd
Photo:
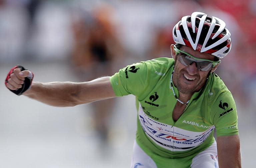
[(208, 53), (224, 58), (231, 49), (230, 32), (226, 23), (205, 13), (194, 12), (183, 16), (173, 28), (173, 40), (201, 53)]

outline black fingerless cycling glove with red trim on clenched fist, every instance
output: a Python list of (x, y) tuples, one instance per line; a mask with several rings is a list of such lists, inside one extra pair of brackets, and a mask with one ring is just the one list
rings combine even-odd
[[(8, 80), (11, 78), (11, 74), (13, 74), (13, 71), (16, 68), (19, 68), (21, 71), (25, 71), (26, 70), (24, 67), (22, 67), (20, 65), (16, 65), (15, 67), (13, 67), (10, 70), (10, 72), (8, 73), (8, 75), (7, 75), (6, 79), (5, 79), (5, 86), (6, 87), (7, 87)], [(24, 84), (22, 84), (21, 88), (18, 88), (16, 90), (11, 90), (8, 87), (7, 88), (9, 90), (11, 90), (13, 93), (17, 94), (17, 95), (22, 95), (22, 93), (24, 93), (27, 89), (29, 89), (30, 85), (32, 84), (33, 78), (34, 78), (34, 74), (30, 73), (27, 77), (25, 77)]]

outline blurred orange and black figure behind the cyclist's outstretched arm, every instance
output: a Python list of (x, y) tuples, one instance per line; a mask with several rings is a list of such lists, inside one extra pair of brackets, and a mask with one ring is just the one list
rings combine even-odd
[[(74, 48), (71, 61), (81, 82), (111, 76), (114, 62), (122, 60), (124, 53), (111, 22), (112, 12), (111, 7), (100, 6), (91, 13), (80, 11), (76, 16), (73, 15)], [(102, 145), (108, 142), (114, 101), (108, 99), (91, 103), (94, 127)]]

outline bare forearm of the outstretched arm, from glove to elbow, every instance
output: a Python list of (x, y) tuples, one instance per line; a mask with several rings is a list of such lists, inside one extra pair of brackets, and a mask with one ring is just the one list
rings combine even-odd
[(72, 82), (33, 82), (30, 89), (23, 95), (52, 106), (77, 105), (78, 83)]

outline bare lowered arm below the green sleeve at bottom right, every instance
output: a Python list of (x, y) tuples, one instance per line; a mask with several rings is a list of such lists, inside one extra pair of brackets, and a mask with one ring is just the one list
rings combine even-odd
[(239, 135), (217, 137), (219, 168), (241, 168)]

